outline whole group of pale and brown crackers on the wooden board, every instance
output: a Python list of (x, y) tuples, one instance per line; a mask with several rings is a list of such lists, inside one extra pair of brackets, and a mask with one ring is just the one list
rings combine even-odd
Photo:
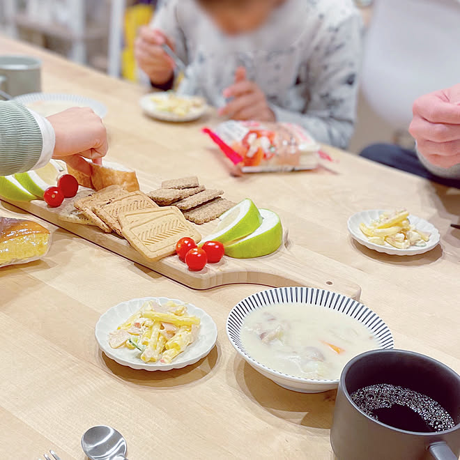
[(59, 218), (74, 224), (95, 225), (130, 242), (147, 259), (174, 254), (176, 243), (187, 236), (198, 243), (199, 231), (187, 222), (204, 224), (217, 219), (234, 203), (222, 190), (207, 190), (196, 176), (163, 181), (145, 194), (110, 185), (99, 192), (80, 190), (59, 208)]

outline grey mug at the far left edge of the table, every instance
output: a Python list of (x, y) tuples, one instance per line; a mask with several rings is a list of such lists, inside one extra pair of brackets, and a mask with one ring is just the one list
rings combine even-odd
[(0, 56), (0, 89), (12, 96), (42, 90), (41, 61), (30, 56)]

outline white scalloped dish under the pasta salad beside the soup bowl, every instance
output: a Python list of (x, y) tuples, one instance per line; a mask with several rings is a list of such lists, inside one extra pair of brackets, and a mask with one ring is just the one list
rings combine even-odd
[[(121, 323), (139, 311), (142, 305), (148, 300), (154, 300), (160, 303), (160, 305), (164, 305), (171, 300), (179, 305), (187, 305), (189, 314), (198, 316), (201, 320), (199, 334), (195, 342), (187, 346), (185, 351), (174, 358), (169, 364), (143, 362), (139, 358), (138, 350), (112, 348), (109, 345), (110, 332), (116, 330)], [(167, 297), (146, 297), (121, 302), (105, 312), (95, 326), (95, 338), (98, 341), (100, 349), (120, 365), (128, 366), (132, 369), (144, 369), (146, 371), (170, 371), (171, 369), (181, 369), (182, 367), (192, 365), (208, 355), (217, 341), (217, 326), (204, 310), (190, 303)]]

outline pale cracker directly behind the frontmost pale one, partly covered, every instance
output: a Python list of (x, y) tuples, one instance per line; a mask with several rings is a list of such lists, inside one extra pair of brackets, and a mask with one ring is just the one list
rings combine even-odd
[(118, 214), (146, 208), (158, 208), (158, 205), (148, 198), (145, 193), (137, 190), (137, 192), (131, 192), (124, 197), (116, 198), (108, 204), (93, 206), (91, 209), (112, 230), (123, 236), (120, 222), (118, 222)]

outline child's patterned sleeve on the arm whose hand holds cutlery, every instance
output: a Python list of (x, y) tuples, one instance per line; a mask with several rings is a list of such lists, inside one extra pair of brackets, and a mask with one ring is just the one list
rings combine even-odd
[(174, 43), (178, 57), (188, 63), (187, 40), (181, 26), (181, 0), (162, 0), (158, 2), (157, 11), (153, 15), (151, 27), (160, 29)]

